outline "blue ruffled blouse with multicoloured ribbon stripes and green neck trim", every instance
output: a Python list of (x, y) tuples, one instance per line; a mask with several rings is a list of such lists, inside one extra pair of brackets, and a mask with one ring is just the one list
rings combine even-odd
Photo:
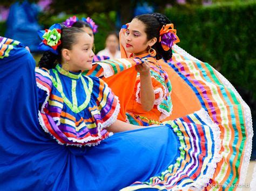
[[(36, 69), (39, 122), (59, 144), (94, 146), (112, 133), (119, 101), (103, 80), (55, 69)], [(83, 93), (81, 91), (84, 91)]]

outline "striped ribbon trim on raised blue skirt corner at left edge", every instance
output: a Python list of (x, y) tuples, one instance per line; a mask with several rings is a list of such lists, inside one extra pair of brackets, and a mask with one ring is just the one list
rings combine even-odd
[(8, 57), (10, 51), (14, 49), (14, 46), (17, 46), (18, 44), (20, 44), (20, 42), (17, 40), (12, 40), (0, 36), (0, 59)]

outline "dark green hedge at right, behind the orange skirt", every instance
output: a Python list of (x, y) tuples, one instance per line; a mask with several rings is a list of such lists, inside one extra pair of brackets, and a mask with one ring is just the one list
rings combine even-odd
[(226, 2), (211, 6), (166, 9), (178, 44), (194, 57), (209, 62), (238, 89), (256, 100), (256, 2)]

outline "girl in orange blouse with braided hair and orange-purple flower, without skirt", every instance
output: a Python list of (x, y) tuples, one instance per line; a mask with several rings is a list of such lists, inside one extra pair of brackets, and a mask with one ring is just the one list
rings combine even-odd
[(172, 112), (172, 85), (161, 62), (172, 57), (171, 47), (179, 42), (176, 30), (160, 13), (139, 15), (124, 26), (120, 42), (123, 58), (147, 60), (136, 66), (134, 90), (131, 98), (126, 99), (126, 120), (144, 126), (160, 124)]

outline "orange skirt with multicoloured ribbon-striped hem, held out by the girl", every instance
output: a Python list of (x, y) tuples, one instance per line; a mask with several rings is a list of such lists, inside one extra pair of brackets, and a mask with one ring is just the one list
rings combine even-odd
[[(105, 77), (102, 79), (119, 97), (121, 112), (118, 119), (120, 120), (129, 119), (131, 123), (145, 126), (149, 125), (149, 122), (170, 124), (172, 122), (170, 120), (177, 119), (196, 124), (201, 124), (199, 122), (201, 120), (213, 121), (221, 132), (219, 139), (221, 159), (217, 163), (216, 170), (212, 172), (212, 178), (206, 189), (235, 189), (237, 185), (245, 182), (251, 156), (253, 130), (250, 108), (232, 84), (211, 65), (194, 58), (177, 45), (172, 47), (172, 51), (172, 59), (157, 60), (156, 63), (156, 67), (159, 66), (167, 73), (171, 83), (171, 86), (167, 85), (169, 83), (165, 85), (171, 87), (169, 108), (172, 109), (169, 117), (164, 119), (160, 119), (161, 113), (156, 110), (156, 106), (153, 108), (154, 114), (151, 111), (138, 114), (140, 110), (131, 110), (131, 107), (127, 106), (130, 103), (133, 103), (133, 106), (139, 105), (134, 93), (138, 90), (138, 78), (134, 68), (119, 72), (124, 67), (123, 59), (116, 59), (115, 65), (99, 62), (93, 67), (98, 68), (97, 71), (114, 73), (111, 77), (104, 74)], [(113, 69), (119, 70), (113, 71)], [(103, 72), (97, 71), (92, 69), (86, 73), (102, 76)], [(130, 115), (127, 115), (128, 110)], [(157, 117), (159, 117), (158, 121), (155, 120)], [(197, 119), (198, 117), (200, 120)]]

